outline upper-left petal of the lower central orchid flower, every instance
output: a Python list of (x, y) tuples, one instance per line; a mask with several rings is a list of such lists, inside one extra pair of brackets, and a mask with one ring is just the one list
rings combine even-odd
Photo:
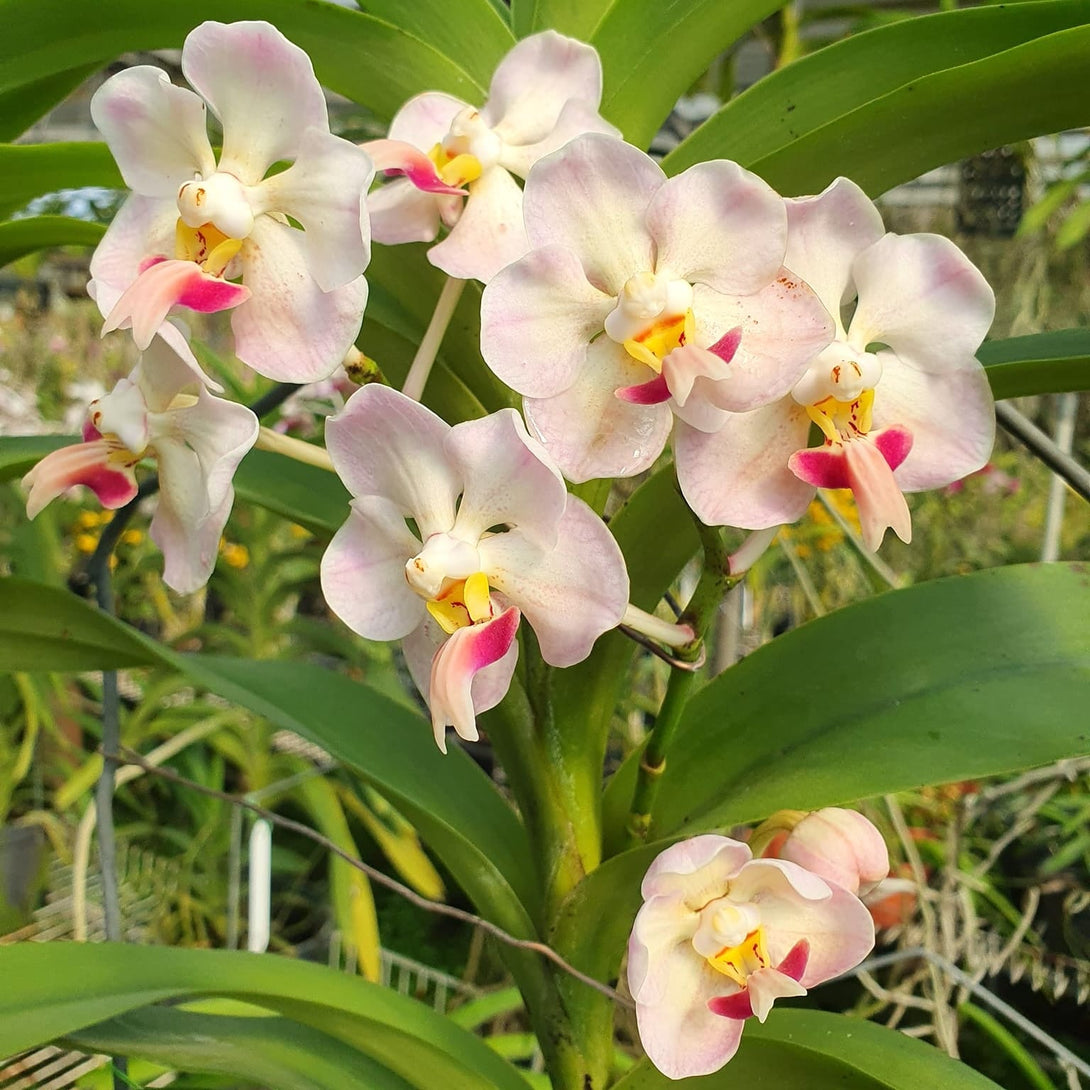
[[(463, 487), (447, 460), (449, 431), (412, 398), (386, 386), (364, 386), (326, 422), (326, 446), (353, 496), (392, 501), (426, 540), (453, 526)], [(419, 546), (408, 556), (416, 552)]]

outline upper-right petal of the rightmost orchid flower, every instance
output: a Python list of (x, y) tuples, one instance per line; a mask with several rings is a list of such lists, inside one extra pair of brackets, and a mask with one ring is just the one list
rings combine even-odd
[(859, 291), (852, 347), (887, 344), (918, 371), (968, 366), (995, 316), (980, 269), (938, 234), (886, 234), (856, 257), (851, 272)]

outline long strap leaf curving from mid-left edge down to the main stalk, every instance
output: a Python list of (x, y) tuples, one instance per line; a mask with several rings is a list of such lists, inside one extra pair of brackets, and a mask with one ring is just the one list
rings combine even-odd
[(525, 829), (487, 776), (439, 753), (403, 703), (310, 663), (182, 655), (58, 588), (0, 580), (0, 669), (159, 665), (294, 730), (352, 765), (420, 831), (479, 909), (532, 937)]

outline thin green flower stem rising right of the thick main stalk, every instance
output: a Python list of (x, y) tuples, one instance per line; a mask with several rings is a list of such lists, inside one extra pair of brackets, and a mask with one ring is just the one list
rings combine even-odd
[[(688, 625), (693, 630), (695, 638), (687, 646), (679, 647), (677, 652), (679, 659), (690, 663), (695, 662), (703, 651), (704, 633), (724, 594), (742, 579), (741, 574), (730, 573), (730, 558), (719, 530), (705, 526), (701, 522), (697, 523), (697, 530), (704, 546), (704, 570), (692, 600), (679, 618), (680, 623)], [(651, 811), (658, 794), (658, 784), (666, 771), (666, 753), (695, 682), (694, 670), (675, 669), (670, 673), (666, 697), (663, 699), (663, 705), (640, 760), (632, 808), (628, 815), (629, 847), (642, 844), (647, 838), (651, 829)]]

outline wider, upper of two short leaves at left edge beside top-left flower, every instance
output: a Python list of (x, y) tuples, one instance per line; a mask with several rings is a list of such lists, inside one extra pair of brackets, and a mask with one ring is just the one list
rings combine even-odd
[(0, 145), (0, 216), (19, 211), (45, 193), (82, 185), (125, 187), (105, 144)]

